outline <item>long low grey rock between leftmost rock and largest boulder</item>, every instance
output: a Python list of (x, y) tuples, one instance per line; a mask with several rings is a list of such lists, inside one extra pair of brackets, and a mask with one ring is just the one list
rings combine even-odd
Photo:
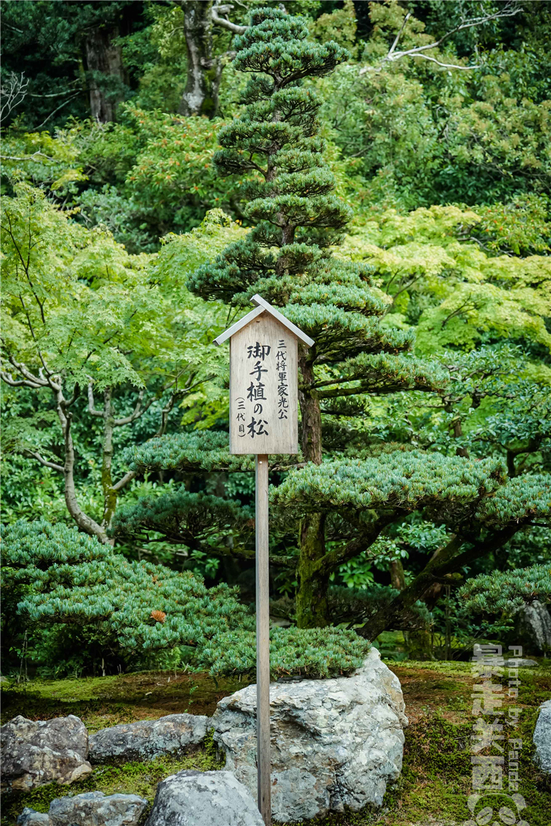
[(161, 754), (183, 752), (207, 734), (208, 717), (168, 714), (158, 720), (140, 720), (102, 729), (90, 737), (90, 760), (152, 760)]

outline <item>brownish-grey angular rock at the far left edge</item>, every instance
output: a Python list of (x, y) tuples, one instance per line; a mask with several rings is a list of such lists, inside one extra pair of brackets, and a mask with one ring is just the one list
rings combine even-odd
[(34, 789), (73, 783), (88, 775), (88, 731), (81, 719), (29, 720), (21, 714), (2, 725), (2, 786)]

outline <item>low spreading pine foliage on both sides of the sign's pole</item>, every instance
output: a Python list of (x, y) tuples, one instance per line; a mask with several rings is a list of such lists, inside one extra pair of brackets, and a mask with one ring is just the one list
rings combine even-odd
[[(95, 537), (45, 520), (2, 525), (2, 551), (3, 586), (20, 589), (26, 624), (93, 626), (126, 654), (191, 646), (214, 676), (254, 672), (254, 616), (236, 588), (209, 589), (191, 572), (129, 562)], [(349, 674), (369, 650), (353, 632), (335, 629), (272, 634), (278, 676)]]

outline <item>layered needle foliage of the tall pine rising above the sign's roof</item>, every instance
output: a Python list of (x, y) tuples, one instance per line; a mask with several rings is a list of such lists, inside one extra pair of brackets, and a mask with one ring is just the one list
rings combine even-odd
[[(347, 51), (333, 41), (311, 42), (303, 18), (274, 8), (252, 13), (235, 49), (235, 68), (251, 77), (244, 112), (222, 127), (214, 161), (221, 175), (254, 173), (245, 207), (254, 228), (199, 268), (189, 287), (237, 306), (259, 292), (316, 340), (316, 364), (409, 349), (411, 335), (380, 324), (386, 304), (371, 268), (336, 259), (329, 249), (351, 211), (335, 196), (324, 159), (321, 100), (303, 81), (330, 74)], [(377, 368), (376, 361), (365, 370), (359, 362), (350, 378), (362, 381)], [(415, 384), (412, 376), (404, 381)]]

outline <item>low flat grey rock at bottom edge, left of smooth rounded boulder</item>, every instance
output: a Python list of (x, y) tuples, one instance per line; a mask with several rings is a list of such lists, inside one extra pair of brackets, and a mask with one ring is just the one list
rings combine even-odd
[(138, 795), (88, 791), (50, 803), (49, 826), (137, 826), (147, 800)]

